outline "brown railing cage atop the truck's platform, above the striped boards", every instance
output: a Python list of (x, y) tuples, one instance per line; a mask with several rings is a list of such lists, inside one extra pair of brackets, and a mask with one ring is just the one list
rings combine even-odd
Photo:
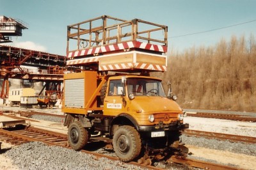
[[(140, 19), (122, 20), (103, 15), (102, 17), (85, 20), (68, 26), (67, 38), (68, 54), (74, 51), (125, 42), (160, 45), (163, 48), (162, 51), (157, 49), (148, 50), (166, 52), (168, 27)], [(137, 44), (135, 48), (139, 49), (140, 46)]]

